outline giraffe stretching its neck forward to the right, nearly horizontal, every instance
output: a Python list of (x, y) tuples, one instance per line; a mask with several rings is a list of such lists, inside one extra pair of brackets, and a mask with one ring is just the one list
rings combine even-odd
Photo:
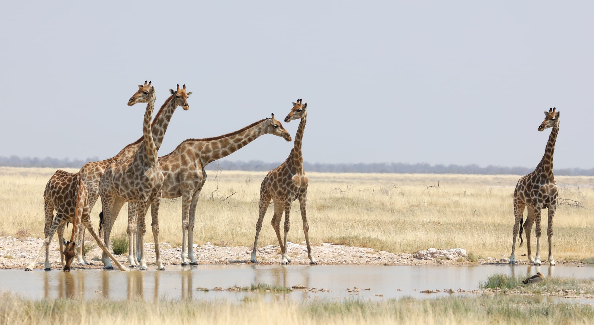
[[(163, 197), (182, 197), (182, 265), (198, 265), (194, 258), (194, 219), (200, 191), (206, 182), (204, 167), (243, 148), (258, 137), (272, 134), (291, 141), (282, 124), (270, 118), (259, 120), (241, 130), (206, 139), (187, 139), (169, 154), (159, 157), (163, 170)], [(145, 212), (146, 213), (146, 212)], [(137, 251), (138, 251), (137, 245)], [(189, 256), (188, 256), (189, 252)], [(189, 258), (189, 262), (188, 262)]]

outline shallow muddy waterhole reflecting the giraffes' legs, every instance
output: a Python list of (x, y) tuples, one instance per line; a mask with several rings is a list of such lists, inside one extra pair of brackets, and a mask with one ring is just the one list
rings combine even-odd
[[(258, 295), (272, 300), (305, 301), (308, 299), (387, 299), (405, 296), (415, 298), (444, 297), (447, 289), (467, 291), (479, 289), (479, 283), (493, 273), (516, 276), (534, 275), (590, 278), (594, 266), (264, 266), (264, 265), (170, 265), (165, 272), (151, 268), (148, 271), (134, 270), (0, 270), (0, 291), (11, 291), (30, 298), (106, 298), (153, 301), (162, 297), (172, 299), (228, 299), (241, 301)], [(268, 284), (291, 287), (305, 285), (307, 288), (328, 289), (329, 292), (295, 290), (279, 292), (229, 292), (197, 291), (198, 287), (229, 288)], [(348, 292), (347, 288), (361, 288)], [(370, 288), (371, 290), (365, 290)], [(399, 290), (400, 289), (400, 290)], [(416, 290), (415, 290), (416, 289)], [(425, 294), (426, 289), (442, 292)], [(383, 295), (380, 297), (379, 295)], [(460, 295), (459, 293), (453, 295)], [(467, 294), (472, 295), (472, 294)], [(594, 299), (564, 299), (537, 297), (542, 301), (573, 301), (594, 304)]]

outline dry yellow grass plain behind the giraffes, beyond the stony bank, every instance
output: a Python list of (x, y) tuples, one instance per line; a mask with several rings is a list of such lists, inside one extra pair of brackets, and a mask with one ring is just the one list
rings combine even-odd
[[(54, 168), (0, 168), (0, 234), (43, 235), (43, 189)], [(75, 172), (76, 170), (69, 170)], [(208, 172), (196, 213), (195, 243), (251, 246), (264, 172)], [(519, 176), (451, 174), (308, 173), (308, 219), (312, 243), (373, 247), (394, 253), (429, 247), (465, 248), (478, 256), (508, 256), (513, 226), (512, 195)], [(554, 220), (557, 260), (583, 259), (594, 251), (594, 177), (556, 177), (560, 197), (583, 208), (560, 205)], [(220, 192), (216, 192), (216, 190)], [(233, 194), (235, 193), (235, 194)], [(233, 194), (233, 195), (232, 195)], [(232, 195), (232, 196), (230, 196)], [(228, 199), (223, 200), (228, 197)], [(100, 202), (91, 216), (97, 226)], [(261, 245), (277, 244), (268, 210)], [(115, 233), (125, 232), (126, 208)], [(150, 220), (150, 217), (149, 217)], [(291, 210), (289, 240), (304, 241), (299, 205)], [(147, 221), (150, 225), (150, 221)], [(163, 200), (160, 238), (181, 243), (181, 199)], [(543, 214), (546, 227), (546, 211)], [(150, 231), (145, 237), (151, 241)], [(546, 235), (542, 236), (546, 258)], [(534, 238), (533, 238), (534, 242)], [(519, 248), (525, 254), (525, 248)]]

